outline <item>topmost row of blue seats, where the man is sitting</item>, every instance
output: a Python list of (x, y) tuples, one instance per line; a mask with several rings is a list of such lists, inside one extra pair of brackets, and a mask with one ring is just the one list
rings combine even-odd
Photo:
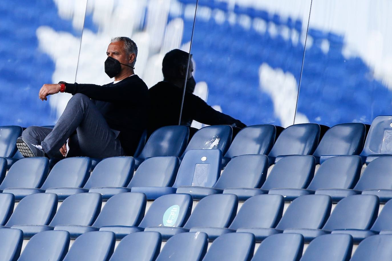
[[(390, 130), (391, 116), (379, 116), (370, 126), (365, 142), (366, 126), (362, 123), (344, 123), (329, 128), (316, 123), (294, 124), (281, 131), (271, 124), (248, 126), (233, 137), (228, 125), (207, 126), (198, 130), (188, 143), (189, 128), (186, 126), (162, 127), (147, 140), (143, 134), (134, 155), (136, 168), (146, 158), (175, 156), (180, 159), (192, 149), (220, 149), (222, 167), (231, 158), (246, 154), (265, 154), (274, 164), (285, 155), (313, 155), (319, 164), (336, 155), (361, 155), (369, 163), (379, 155), (390, 154), (392, 149), (385, 140)], [(325, 131), (325, 129), (328, 129)], [(3, 126), (0, 156), (6, 157), (8, 168), (15, 163), (15, 141), (21, 134), (18, 126)], [(281, 131), (281, 132), (279, 132)], [(325, 133), (324, 133), (325, 131)], [(320, 139), (321, 138), (321, 139)]]

